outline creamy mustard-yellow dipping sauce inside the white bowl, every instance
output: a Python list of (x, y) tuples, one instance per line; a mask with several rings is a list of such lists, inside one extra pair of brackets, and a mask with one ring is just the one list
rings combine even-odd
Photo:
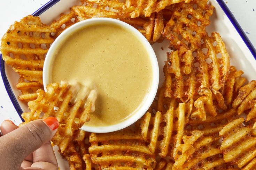
[(96, 86), (95, 111), (85, 125), (115, 125), (140, 108), (152, 86), (153, 68), (142, 42), (109, 23), (86, 26), (56, 50), (51, 82)]

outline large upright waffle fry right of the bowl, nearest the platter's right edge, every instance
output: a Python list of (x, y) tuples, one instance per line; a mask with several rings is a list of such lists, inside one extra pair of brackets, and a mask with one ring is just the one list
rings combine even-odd
[[(214, 89), (213, 94), (220, 96), (217, 91), (223, 88), (230, 70), (229, 55), (220, 35), (212, 33), (195, 55), (193, 57), (184, 47), (168, 53), (164, 66), (166, 97), (179, 98), (183, 102), (191, 98), (196, 100), (203, 87)], [(220, 105), (225, 107), (224, 103)]]

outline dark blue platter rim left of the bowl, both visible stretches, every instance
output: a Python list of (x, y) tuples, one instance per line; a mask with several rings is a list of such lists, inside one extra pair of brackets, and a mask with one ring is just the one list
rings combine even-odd
[[(35, 11), (32, 15), (33, 16), (39, 16), (41, 15), (43, 12), (45, 12), (47, 9), (51, 8), (53, 5), (55, 5), (57, 2), (59, 2), (60, 0), (51, 0), (49, 2), (47, 2), (44, 6), (42, 6), (41, 8), (39, 8), (37, 11)], [(23, 120), (23, 118), (21, 117), (21, 114), (23, 113), (15, 95), (13, 94), (13, 91), (11, 89), (11, 86), (8, 82), (8, 79), (6, 77), (5, 74), (5, 61), (2, 59), (2, 54), (0, 54), (0, 71), (1, 71), (1, 76), (3, 79), (3, 84), (5, 85), (5, 89), (10, 97), (11, 102), (13, 103), (14, 108), (16, 109), (18, 115), (20, 116), (21, 120)]]

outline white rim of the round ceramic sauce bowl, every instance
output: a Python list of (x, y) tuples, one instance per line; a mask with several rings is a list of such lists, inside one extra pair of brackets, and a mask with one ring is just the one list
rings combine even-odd
[[(52, 83), (50, 82), (50, 79), (51, 79), (50, 77), (52, 73), (51, 66), (52, 66), (52, 63), (54, 62), (56, 51), (57, 51), (56, 49), (59, 47), (59, 44), (65, 41), (70, 34), (76, 32), (77, 30), (89, 25), (99, 24), (99, 23), (109, 23), (113, 25), (119, 25), (127, 29), (128, 31), (130, 31), (135, 36), (137, 36), (139, 40), (142, 42), (142, 44), (145, 46), (145, 48), (147, 49), (150, 61), (152, 63), (152, 68), (153, 68), (153, 76), (152, 76), (153, 79), (152, 79), (151, 90), (149, 92), (147, 99), (143, 100), (143, 103), (142, 105), (140, 105), (140, 108), (138, 109), (137, 112), (133, 113), (130, 117), (128, 117), (127, 119), (115, 125), (104, 126), (104, 127), (91, 127), (91, 126), (84, 125), (80, 128), (82, 130), (94, 132), (94, 133), (107, 133), (107, 132), (120, 130), (132, 125), (135, 121), (141, 118), (143, 114), (148, 110), (148, 108), (152, 104), (156, 95), (158, 82), (159, 82), (159, 68), (158, 68), (156, 55), (151, 45), (147, 41), (147, 39), (137, 29), (120, 20), (111, 19), (111, 18), (92, 18), (92, 19), (81, 21), (77, 24), (70, 26), (57, 37), (57, 39), (53, 42), (53, 44), (51, 45), (51, 48), (49, 49), (46, 55), (45, 62), (44, 62), (44, 69), (43, 69), (43, 83), (44, 83), (45, 90), (46, 90), (46, 86)], [(127, 49), (127, 50), (131, 50), (131, 49)]]

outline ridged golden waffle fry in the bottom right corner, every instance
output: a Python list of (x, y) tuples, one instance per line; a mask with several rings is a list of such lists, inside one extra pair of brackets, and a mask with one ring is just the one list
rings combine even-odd
[(231, 121), (220, 130), (223, 142), (220, 149), (225, 162), (231, 162), (243, 169), (256, 166), (256, 137), (251, 133), (251, 126), (242, 125), (244, 118)]

